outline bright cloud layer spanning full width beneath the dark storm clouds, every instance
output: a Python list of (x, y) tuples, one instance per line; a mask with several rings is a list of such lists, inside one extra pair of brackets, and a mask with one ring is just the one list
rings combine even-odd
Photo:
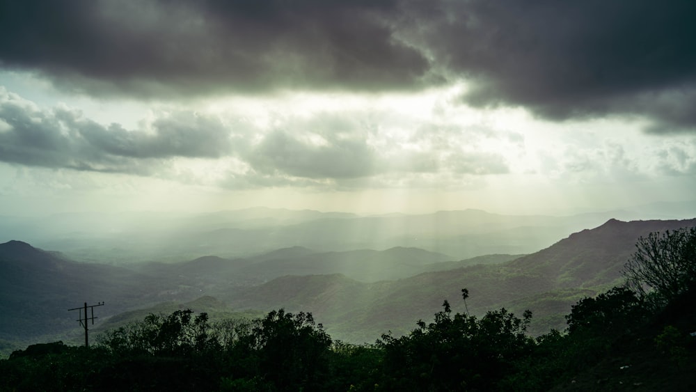
[(0, 162), (228, 189), (463, 189), (501, 177), (589, 184), (696, 173), (688, 134), (658, 138), (606, 121), (548, 130), (492, 113), (511, 116), (496, 125), (456, 104), (434, 107), (426, 115), (367, 104), (301, 115), (287, 107), (268, 118), (179, 109), (126, 129), (0, 88)]

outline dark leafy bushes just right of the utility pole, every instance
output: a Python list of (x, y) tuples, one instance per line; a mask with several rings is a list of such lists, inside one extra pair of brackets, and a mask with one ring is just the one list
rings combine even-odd
[(212, 325), (205, 313), (194, 317), (190, 310), (150, 314), (143, 322), (107, 332), (100, 343), (131, 359), (110, 375), (138, 372), (143, 361), (145, 368), (164, 366), (160, 373), (184, 366), (218, 379), (226, 391), (318, 389), (329, 374), (331, 354), (331, 338), (310, 313), (283, 309), (261, 319)]

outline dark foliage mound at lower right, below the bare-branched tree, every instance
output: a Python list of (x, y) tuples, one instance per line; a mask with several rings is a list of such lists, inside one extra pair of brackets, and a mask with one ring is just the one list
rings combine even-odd
[[(693, 317), (690, 308), (682, 313)], [(537, 338), (534, 350), (514, 363), (500, 389), (692, 390), (684, 387), (693, 385), (690, 370), (675, 365), (693, 361), (696, 347), (688, 345), (693, 338), (657, 327), (660, 317), (625, 287), (582, 299), (566, 317), (567, 333), (551, 331)]]

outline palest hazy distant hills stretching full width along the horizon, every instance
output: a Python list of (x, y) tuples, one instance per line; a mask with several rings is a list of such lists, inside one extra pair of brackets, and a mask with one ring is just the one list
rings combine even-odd
[[(43, 249), (63, 251), (74, 260), (114, 264), (184, 261), (206, 255), (247, 258), (292, 246), (322, 252), (404, 246), (461, 260), (492, 253), (531, 253), (610, 218), (644, 219), (690, 211), (688, 203), (640, 209), (644, 212), (608, 211), (566, 217), (481, 210), (358, 216), (264, 207), (204, 214), (84, 212), (0, 217), (0, 241), (22, 238)], [(696, 207), (691, 210), (696, 214)]]

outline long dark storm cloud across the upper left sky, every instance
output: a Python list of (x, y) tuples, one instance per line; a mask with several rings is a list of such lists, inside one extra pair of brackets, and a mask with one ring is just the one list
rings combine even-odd
[(3, 1), (0, 61), (90, 93), (404, 88), (394, 1)]

